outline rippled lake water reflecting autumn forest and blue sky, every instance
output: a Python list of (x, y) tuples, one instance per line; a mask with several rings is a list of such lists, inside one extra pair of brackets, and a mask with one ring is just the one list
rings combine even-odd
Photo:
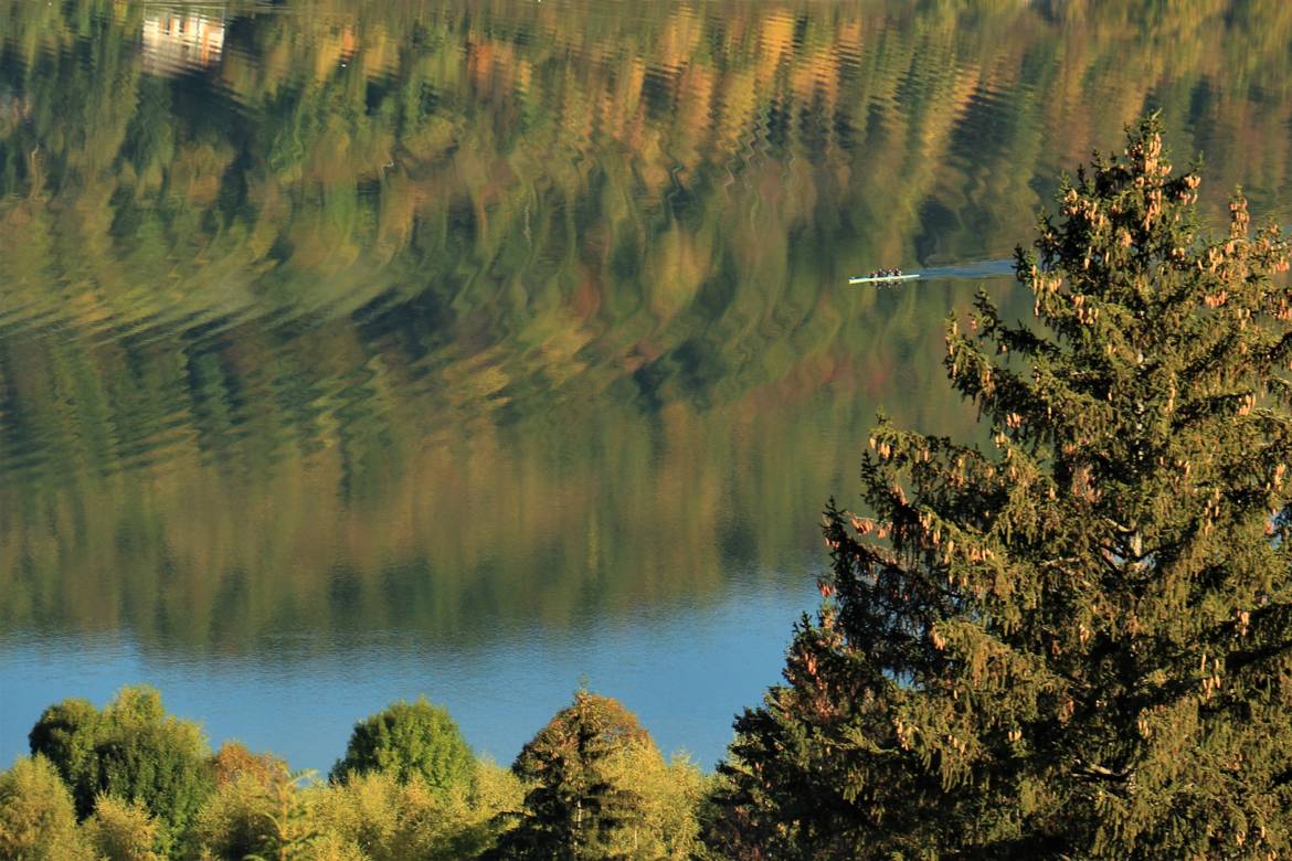
[(0, 765), (132, 682), (509, 762), (583, 675), (711, 765), (1061, 169), (1158, 107), (1292, 200), (1292, 5), (955, 5), (0, 0)]

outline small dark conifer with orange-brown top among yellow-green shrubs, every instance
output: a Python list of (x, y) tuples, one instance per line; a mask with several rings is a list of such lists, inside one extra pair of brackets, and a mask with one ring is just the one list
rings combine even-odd
[(525, 745), (512, 767), (534, 781), (519, 824), (500, 840), (496, 857), (614, 857), (610, 834), (640, 818), (641, 798), (615, 784), (609, 760), (628, 745), (650, 744), (637, 718), (616, 700), (580, 689)]

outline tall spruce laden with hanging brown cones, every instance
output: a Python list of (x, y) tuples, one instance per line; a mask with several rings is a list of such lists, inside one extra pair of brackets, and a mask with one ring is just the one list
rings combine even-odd
[(712, 848), (1292, 857), (1288, 245), (1198, 186), (1141, 120), (1016, 252), (1037, 321), (948, 321), (996, 451), (881, 417)]

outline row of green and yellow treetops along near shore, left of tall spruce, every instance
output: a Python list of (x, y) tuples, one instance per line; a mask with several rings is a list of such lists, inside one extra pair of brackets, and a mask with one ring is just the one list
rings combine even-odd
[(49, 706), (30, 740), (0, 775), (4, 858), (687, 858), (716, 780), (585, 689), (510, 768), (426, 700), (357, 723), (326, 778), (239, 742), (212, 751), (147, 687)]

